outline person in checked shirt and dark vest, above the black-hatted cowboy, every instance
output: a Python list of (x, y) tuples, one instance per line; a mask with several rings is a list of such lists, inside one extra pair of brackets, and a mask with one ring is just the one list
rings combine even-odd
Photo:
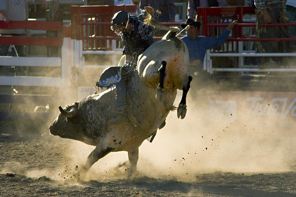
[(188, 0), (187, 17), (194, 19), (195, 12), (199, 8), (226, 7), (225, 0)]

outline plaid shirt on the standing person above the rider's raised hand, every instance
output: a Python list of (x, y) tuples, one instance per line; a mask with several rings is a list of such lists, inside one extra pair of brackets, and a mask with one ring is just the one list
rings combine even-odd
[(159, 10), (163, 13), (171, 14), (171, 21), (175, 21), (175, 4), (173, 0), (141, 0), (140, 2), (140, 10), (141, 12), (145, 12), (145, 6), (151, 6), (155, 10)]

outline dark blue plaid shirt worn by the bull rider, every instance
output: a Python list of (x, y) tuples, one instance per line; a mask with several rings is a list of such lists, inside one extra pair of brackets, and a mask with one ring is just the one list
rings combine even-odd
[[(159, 14), (156, 13), (156, 11), (154, 11), (153, 13), (150, 14), (153, 18), (157, 19)], [(135, 21), (132, 22), (131, 24), (131, 30), (130, 30), (130, 33), (132, 31), (135, 31), (135, 28), (136, 28), (136, 23)], [(149, 24), (147, 23), (140, 23), (138, 28), (137, 28), (137, 32), (136, 32), (136, 35), (139, 36), (140, 39), (143, 39), (143, 40), (149, 40), (150, 37), (152, 37), (152, 33), (153, 33), (153, 30), (154, 28), (151, 27)], [(128, 36), (130, 33), (125, 33), (123, 36)], [(124, 48), (123, 48), (123, 51), (122, 51), (122, 55), (131, 55), (131, 52), (130, 52), (130, 46), (127, 46), (127, 43), (125, 43), (124, 41), (122, 41), (123, 45), (124, 45)]]

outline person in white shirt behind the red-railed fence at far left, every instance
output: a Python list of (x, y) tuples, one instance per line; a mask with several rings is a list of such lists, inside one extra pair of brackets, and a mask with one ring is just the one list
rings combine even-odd
[[(9, 24), (11, 20), (13, 21), (24, 21), (26, 18), (25, 9), (26, 4), (29, 2), (42, 2), (45, 8), (48, 4), (45, 0), (0, 0), (0, 20), (5, 21)], [(2, 36), (25, 36), (24, 29), (0, 29), (0, 34)], [(0, 56), (7, 56), (8, 49), (10, 45), (0, 45)], [(15, 51), (18, 56), (25, 56), (24, 46), (15, 45)]]

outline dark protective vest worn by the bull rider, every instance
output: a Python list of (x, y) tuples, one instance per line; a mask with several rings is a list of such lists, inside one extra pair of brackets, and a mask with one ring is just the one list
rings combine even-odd
[(124, 41), (127, 44), (127, 47), (130, 48), (131, 54), (129, 55), (132, 55), (135, 52), (142, 53), (154, 43), (153, 36), (151, 35), (148, 40), (139, 38), (139, 35), (137, 35), (137, 28), (141, 22), (138, 20), (137, 16), (133, 15), (130, 16), (130, 20), (131, 23), (135, 24), (135, 30), (130, 33), (124, 33), (124, 35), (122, 35), (122, 41)]

